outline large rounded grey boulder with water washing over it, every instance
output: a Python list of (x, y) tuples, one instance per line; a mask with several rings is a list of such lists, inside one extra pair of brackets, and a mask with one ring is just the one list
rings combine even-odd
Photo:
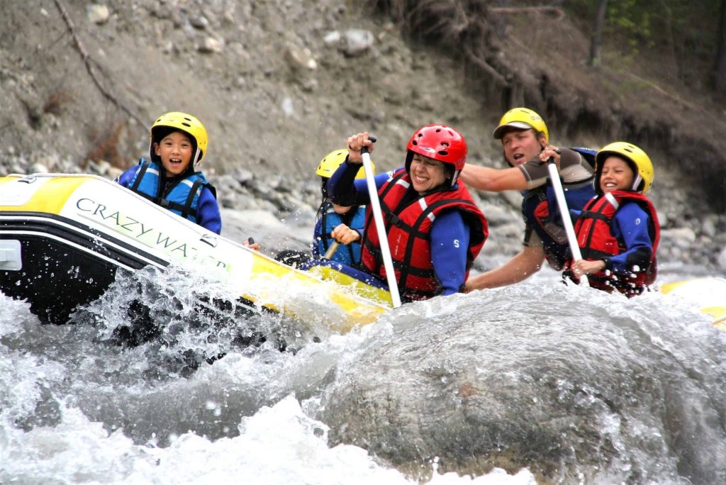
[(548, 483), (724, 483), (726, 334), (664, 296), (569, 288), (402, 307), (327, 391), (332, 444), (415, 475), (438, 458)]

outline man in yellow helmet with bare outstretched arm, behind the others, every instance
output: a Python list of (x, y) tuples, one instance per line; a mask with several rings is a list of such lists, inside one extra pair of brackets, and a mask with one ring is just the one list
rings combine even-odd
[(470, 187), (492, 192), (521, 190), (525, 222), (523, 248), (497, 269), (470, 277), (466, 290), (497, 288), (521, 282), (539, 271), (545, 259), (563, 269), (570, 258), (555, 193), (549, 182), (546, 162), (554, 158), (560, 169), (568, 208), (581, 209), (595, 197), (594, 150), (555, 147), (542, 116), (526, 107), (507, 111), (494, 130), (511, 168), (497, 169), (467, 164), (461, 178)]

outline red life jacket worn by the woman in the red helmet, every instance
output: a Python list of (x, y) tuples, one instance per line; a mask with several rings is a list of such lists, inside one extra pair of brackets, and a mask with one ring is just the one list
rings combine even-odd
[[(436, 274), (431, 261), (431, 225), (445, 209), (457, 208), (462, 211), (462, 216), (470, 226), (465, 278), (468, 277), (469, 269), (489, 235), (489, 229), (484, 213), (476, 206), (462, 182), (458, 182), (455, 189), (412, 197), (411, 177), (404, 168), (400, 168), (391, 180), (380, 187), (378, 195), (401, 298), (407, 301), (424, 300), (436, 295)], [(402, 204), (406, 196), (409, 202)], [(363, 240), (367, 250), (362, 251), (362, 265), (368, 272), (385, 279), (386, 269), (370, 204), (366, 209)]]

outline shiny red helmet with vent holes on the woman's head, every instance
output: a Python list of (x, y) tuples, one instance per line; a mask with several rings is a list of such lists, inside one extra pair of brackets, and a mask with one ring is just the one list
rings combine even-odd
[(413, 154), (433, 158), (454, 166), (457, 173), (464, 168), (466, 140), (458, 131), (446, 125), (428, 125), (417, 129), (406, 147), (406, 170), (411, 168)]

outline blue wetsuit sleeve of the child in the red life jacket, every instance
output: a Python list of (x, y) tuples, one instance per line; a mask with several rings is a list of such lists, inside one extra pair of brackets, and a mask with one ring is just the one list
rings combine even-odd
[(636, 203), (621, 205), (613, 219), (613, 236), (622, 241), (626, 250), (611, 256), (609, 268), (617, 274), (643, 272), (650, 263), (653, 242), (648, 233), (648, 213)]

